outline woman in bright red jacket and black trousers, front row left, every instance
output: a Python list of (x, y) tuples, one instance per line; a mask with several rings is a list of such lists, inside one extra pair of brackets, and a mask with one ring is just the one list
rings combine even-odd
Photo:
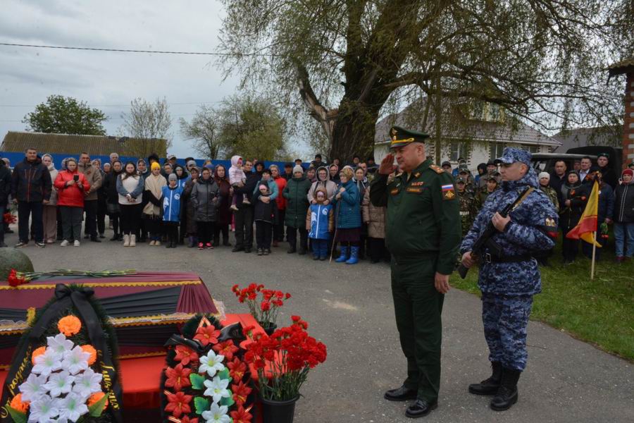
[(90, 184), (83, 173), (77, 172), (77, 161), (66, 159), (66, 168), (55, 178), (57, 188), (57, 206), (62, 218), (64, 240), (62, 247), (66, 247), (71, 240), (75, 240), (75, 247), (80, 246), (82, 235), (82, 215), (84, 213), (84, 193), (88, 192)]

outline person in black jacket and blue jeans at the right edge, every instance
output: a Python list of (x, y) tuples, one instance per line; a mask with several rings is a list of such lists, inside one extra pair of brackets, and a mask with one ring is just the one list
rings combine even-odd
[[(616, 262), (634, 257), (634, 170), (627, 168), (614, 191), (614, 245)], [(627, 238), (627, 240), (626, 240)]]

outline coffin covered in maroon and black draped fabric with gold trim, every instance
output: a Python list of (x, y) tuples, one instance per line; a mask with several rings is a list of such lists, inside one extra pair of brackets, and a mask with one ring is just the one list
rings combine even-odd
[(57, 283), (91, 286), (111, 318), (120, 358), (163, 355), (163, 344), (197, 313), (220, 312), (197, 274), (143, 272), (111, 278), (41, 278), (18, 287), (0, 281), (0, 369), (11, 364), (15, 345), (36, 309)]

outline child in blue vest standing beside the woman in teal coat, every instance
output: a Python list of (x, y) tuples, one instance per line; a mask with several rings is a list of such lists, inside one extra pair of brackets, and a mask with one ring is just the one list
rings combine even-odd
[(325, 260), (328, 256), (328, 240), (335, 229), (335, 214), (332, 204), (324, 205), (328, 200), (328, 192), (319, 187), (315, 193), (317, 204), (311, 204), (306, 213), (306, 231), (313, 245), (313, 260)]

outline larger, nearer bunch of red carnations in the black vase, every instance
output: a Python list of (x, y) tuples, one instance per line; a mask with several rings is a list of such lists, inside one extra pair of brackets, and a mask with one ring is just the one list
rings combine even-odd
[(271, 336), (252, 334), (245, 328), (252, 343), (247, 345), (244, 361), (258, 372), (260, 394), (265, 400), (294, 400), (306, 381), (310, 369), (325, 362), (326, 346), (309, 336), (308, 323), (292, 317), (291, 326), (280, 328)]

